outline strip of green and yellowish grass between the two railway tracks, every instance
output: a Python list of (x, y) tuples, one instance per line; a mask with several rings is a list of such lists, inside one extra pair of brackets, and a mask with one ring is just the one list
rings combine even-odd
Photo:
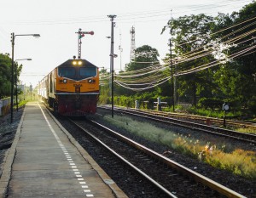
[(155, 127), (148, 122), (137, 122), (127, 116), (114, 116), (113, 119), (111, 116), (103, 116), (101, 119), (144, 139), (164, 144), (185, 155), (205, 161), (212, 167), (225, 169), (245, 178), (256, 178), (255, 151), (241, 150), (235, 145), (212, 139), (212, 136), (183, 135)]

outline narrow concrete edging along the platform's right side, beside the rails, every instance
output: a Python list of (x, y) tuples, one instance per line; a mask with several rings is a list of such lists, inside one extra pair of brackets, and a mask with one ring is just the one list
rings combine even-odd
[[(49, 110), (47, 111), (49, 115), (53, 118), (55, 123), (61, 128), (61, 130), (66, 133), (67, 138), (70, 140), (70, 142), (79, 150), (79, 153), (81, 154), (81, 156), (83, 156), (84, 160), (90, 163), (90, 165), (96, 170), (100, 178), (102, 178), (104, 183), (107, 184), (108, 187), (112, 190), (113, 195), (115, 195), (117, 198), (128, 198), (128, 196), (119, 189), (119, 186), (115, 184), (111, 178), (109, 178), (108, 174), (102, 170), (102, 168), (96, 163), (96, 161), (94, 161), (94, 159), (87, 153), (87, 151), (84, 150), (84, 148), (75, 139), (73, 139), (73, 136), (68, 133), (64, 127), (62, 127), (61, 123), (55, 119), (55, 116), (53, 116), (49, 112)], [(0, 198), (2, 197), (0, 196)]]

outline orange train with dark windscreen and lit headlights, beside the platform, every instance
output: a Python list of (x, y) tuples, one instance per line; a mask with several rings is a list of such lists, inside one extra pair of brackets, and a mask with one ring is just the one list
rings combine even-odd
[(98, 68), (86, 59), (68, 59), (39, 82), (38, 96), (62, 116), (95, 114)]

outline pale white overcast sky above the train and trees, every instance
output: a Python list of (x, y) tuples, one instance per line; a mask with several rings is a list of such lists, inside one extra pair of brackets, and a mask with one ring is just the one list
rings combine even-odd
[[(183, 15), (218, 12), (231, 14), (252, 0), (0, 0), (0, 54), (12, 54), (11, 33), (15, 37), (15, 60), (23, 65), (20, 81), (33, 88), (56, 66), (78, 57), (79, 31), (94, 31), (82, 38), (81, 58), (109, 71), (111, 21), (115, 14), (113, 51), (115, 71), (130, 62), (131, 27), (135, 27), (136, 48), (149, 45), (164, 59), (168, 54), (168, 32), (161, 34), (168, 20)], [(171, 11), (172, 10), (172, 11)], [(18, 36), (40, 34), (41, 37)], [(119, 50), (121, 48), (122, 50)]]

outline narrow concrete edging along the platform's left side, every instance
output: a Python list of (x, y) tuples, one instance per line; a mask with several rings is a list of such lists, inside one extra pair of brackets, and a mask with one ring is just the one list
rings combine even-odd
[(20, 139), (21, 126), (24, 120), (25, 110), (26, 109), (23, 110), (23, 114), (21, 116), (20, 123), (17, 127), (13, 144), (11, 145), (9, 150), (6, 152), (6, 156), (3, 160), (3, 173), (0, 178), (0, 198), (5, 198), (7, 195), (8, 185), (9, 185), (9, 181), (12, 173), (12, 165), (15, 161), (16, 147)]

